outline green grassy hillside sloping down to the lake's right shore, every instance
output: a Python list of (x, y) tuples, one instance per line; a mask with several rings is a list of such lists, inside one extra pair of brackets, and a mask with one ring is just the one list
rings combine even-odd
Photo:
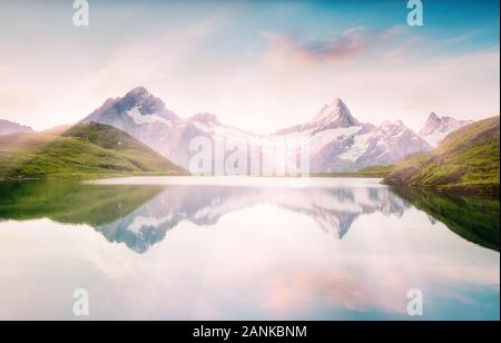
[(499, 117), (493, 117), (454, 131), (435, 150), (397, 164), (383, 183), (499, 193)]

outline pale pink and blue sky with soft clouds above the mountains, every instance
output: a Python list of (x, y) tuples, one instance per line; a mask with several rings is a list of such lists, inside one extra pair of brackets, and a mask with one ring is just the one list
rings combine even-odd
[[(343, 98), (363, 121), (499, 114), (499, 1), (0, 0), (0, 117), (73, 122), (145, 86), (180, 116), (267, 133)], [(45, 120), (40, 120), (40, 117)]]

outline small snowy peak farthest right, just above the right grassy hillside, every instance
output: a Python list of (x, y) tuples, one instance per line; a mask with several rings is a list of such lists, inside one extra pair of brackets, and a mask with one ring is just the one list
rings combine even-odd
[(451, 117), (439, 117), (434, 112), (431, 112), (423, 128), (418, 134), (431, 146), (436, 147), (449, 134), (472, 122), (472, 120), (458, 120)]

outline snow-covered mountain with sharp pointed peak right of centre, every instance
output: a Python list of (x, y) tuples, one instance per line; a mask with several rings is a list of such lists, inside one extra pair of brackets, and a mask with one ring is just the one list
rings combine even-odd
[(335, 99), (310, 122), (279, 130), (277, 136), (302, 136), (311, 144), (313, 173), (353, 171), (393, 164), (431, 146), (402, 121), (380, 126), (360, 122), (347, 106)]

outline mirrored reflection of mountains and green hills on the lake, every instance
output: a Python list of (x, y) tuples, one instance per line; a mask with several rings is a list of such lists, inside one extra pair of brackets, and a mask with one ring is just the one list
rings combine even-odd
[(475, 244), (499, 252), (499, 200), (464, 199), (377, 183), (364, 186), (257, 187), (220, 185), (96, 185), (78, 182), (0, 183), (0, 220), (48, 217), (88, 224), (109, 242), (146, 253), (181, 222), (216, 225), (259, 204), (308, 216), (342, 239), (362, 215), (401, 217), (414, 206)]

